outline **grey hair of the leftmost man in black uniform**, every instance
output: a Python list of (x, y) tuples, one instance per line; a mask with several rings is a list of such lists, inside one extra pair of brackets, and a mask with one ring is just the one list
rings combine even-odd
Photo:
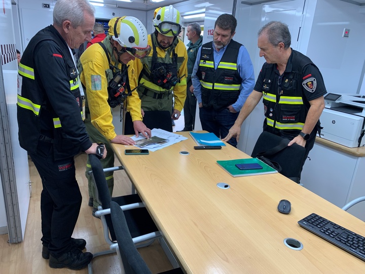
[(53, 9), (53, 24), (62, 26), (68, 20), (76, 28), (84, 23), (84, 13), (95, 14), (94, 6), (88, 0), (58, 0)]

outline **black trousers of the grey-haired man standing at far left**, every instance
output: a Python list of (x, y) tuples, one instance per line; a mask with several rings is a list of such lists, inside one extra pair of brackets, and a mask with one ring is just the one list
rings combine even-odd
[(79, 217), (82, 196), (76, 181), (75, 161), (71, 156), (54, 160), (53, 145), (40, 142), (30, 157), (42, 179), (42, 244), (54, 257), (72, 248), (71, 235)]

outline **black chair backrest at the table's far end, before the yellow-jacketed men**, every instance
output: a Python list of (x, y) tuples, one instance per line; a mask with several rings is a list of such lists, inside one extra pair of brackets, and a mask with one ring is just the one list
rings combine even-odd
[[(171, 114), (169, 111), (145, 111), (143, 123), (150, 129), (160, 128), (172, 132)], [(125, 115), (124, 134), (134, 134), (133, 122), (130, 113)]]

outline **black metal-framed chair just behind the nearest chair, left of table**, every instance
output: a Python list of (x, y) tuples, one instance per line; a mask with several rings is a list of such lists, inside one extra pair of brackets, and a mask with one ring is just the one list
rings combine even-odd
[[(149, 246), (156, 238), (161, 237), (160, 231), (158, 231), (147, 209), (144, 208), (144, 205), (138, 194), (111, 197), (100, 160), (94, 154), (89, 154), (89, 159), (92, 169), (90, 174), (95, 185), (96, 198), (100, 204), (98, 210), (95, 212), (95, 216), (100, 217), (101, 219), (106, 243), (109, 246), (116, 243), (116, 235), (109, 208), (112, 200), (117, 202), (120, 206), (122, 206), (122, 209), (126, 211), (125, 218), (127, 220), (128, 230), (130, 234), (136, 238), (135, 243), (141, 243), (137, 246), (138, 248)], [(117, 167), (117, 169), (121, 169), (121, 167)], [(94, 254), (93, 259), (98, 256), (115, 252), (115, 250), (98, 252)], [(88, 271), (90, 274), (92, 274), (92, 261), (88, 265)]]

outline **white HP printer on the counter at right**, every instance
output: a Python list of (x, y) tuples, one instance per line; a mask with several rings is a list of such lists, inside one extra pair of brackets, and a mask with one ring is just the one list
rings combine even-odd
[(349, 148), (365, 146), (365, 95), (327, 93), (321, 137)]

